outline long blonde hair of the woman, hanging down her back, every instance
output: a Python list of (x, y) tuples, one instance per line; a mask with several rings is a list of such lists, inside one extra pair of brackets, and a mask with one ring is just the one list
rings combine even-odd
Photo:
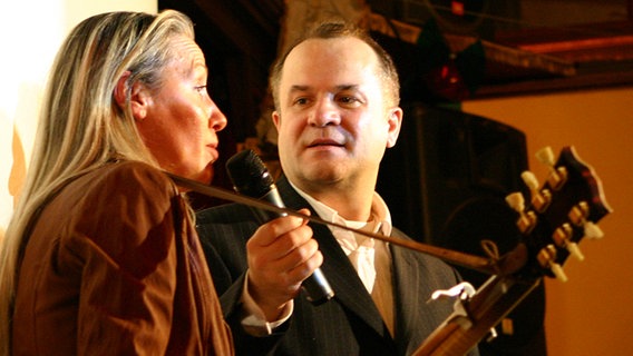
[[(11, 317), (20, 255), (38, 209), (65, 182), (113, 159), (158, 167), (136, 130), (129, 107), (132, 83), (162, 86), (174, 57), (175, 37), (194, 38), (191, 20), (159, 14), (108, 12), (79, 23), (62, 43), (50, 71), (33, 155), (20, 200), (0, 241), (0, 356), (11, 352)], [(129, 71), (125, 107), (114, 99)]]

